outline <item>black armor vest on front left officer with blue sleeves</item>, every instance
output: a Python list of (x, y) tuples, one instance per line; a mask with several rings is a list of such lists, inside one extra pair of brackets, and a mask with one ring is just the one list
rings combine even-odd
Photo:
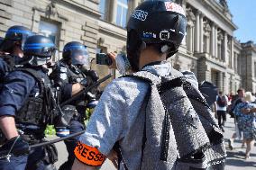
[(19, 68), (18, 70), (28, 73), (36, 79), (39, 86), (39, 94), (31, 94), (23, 104), (23, 107), (16, 112), (15, 121), (17, 124), (36, 125), (44, 130), (50, 120), (51, 91), (50, 80), (46, 74), (32, 68)]

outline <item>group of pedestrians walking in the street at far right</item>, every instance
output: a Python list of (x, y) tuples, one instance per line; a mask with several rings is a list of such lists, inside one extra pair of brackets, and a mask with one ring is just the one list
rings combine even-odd
[(244, 158), (250, 158), (251, 148), (254, 146), (256, 139), (256, 98), (251, 92), (245, 92), (240, 88), (236, 95), (232, 93), (224, 95), (222, 92), (216, 97), (216, 118), (220, 128), (224, 131), (226, 114), (233, 119), (235, 132), (231, 139), (228, 139), (228, 147), (233, 149), (234, 139), (242, 141), (241, 148), (246, 150)]

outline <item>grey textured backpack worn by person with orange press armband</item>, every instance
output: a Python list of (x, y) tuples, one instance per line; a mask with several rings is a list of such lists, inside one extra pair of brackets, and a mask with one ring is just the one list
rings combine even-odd
[(140, 169), (224, 169), (224, 136), (197, 87), (175, 69), (164, 77), (148, 71), (128, 77), (151, 86), (141, 108), (145, 122)]

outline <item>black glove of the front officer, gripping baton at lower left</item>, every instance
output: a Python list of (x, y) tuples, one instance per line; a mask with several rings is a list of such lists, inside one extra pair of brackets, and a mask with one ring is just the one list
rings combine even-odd
[(7, 140), (0, 148), (0, 157), (6, 156), (9, 152), (10, 154), (14, 154), (16, 157), (24, 156), (29, 154), (29, 151), (30, 148), (28, 142), (24, 141), (20, 136), (17, 136)]

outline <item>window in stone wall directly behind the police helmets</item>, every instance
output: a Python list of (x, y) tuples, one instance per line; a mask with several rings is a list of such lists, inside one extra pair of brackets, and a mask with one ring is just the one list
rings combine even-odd
[(58, 22), (47, 22), (41, 20), (39, 23), (39, 34), (50, 39), (56, 44), (59, 45), (59, 24)]

